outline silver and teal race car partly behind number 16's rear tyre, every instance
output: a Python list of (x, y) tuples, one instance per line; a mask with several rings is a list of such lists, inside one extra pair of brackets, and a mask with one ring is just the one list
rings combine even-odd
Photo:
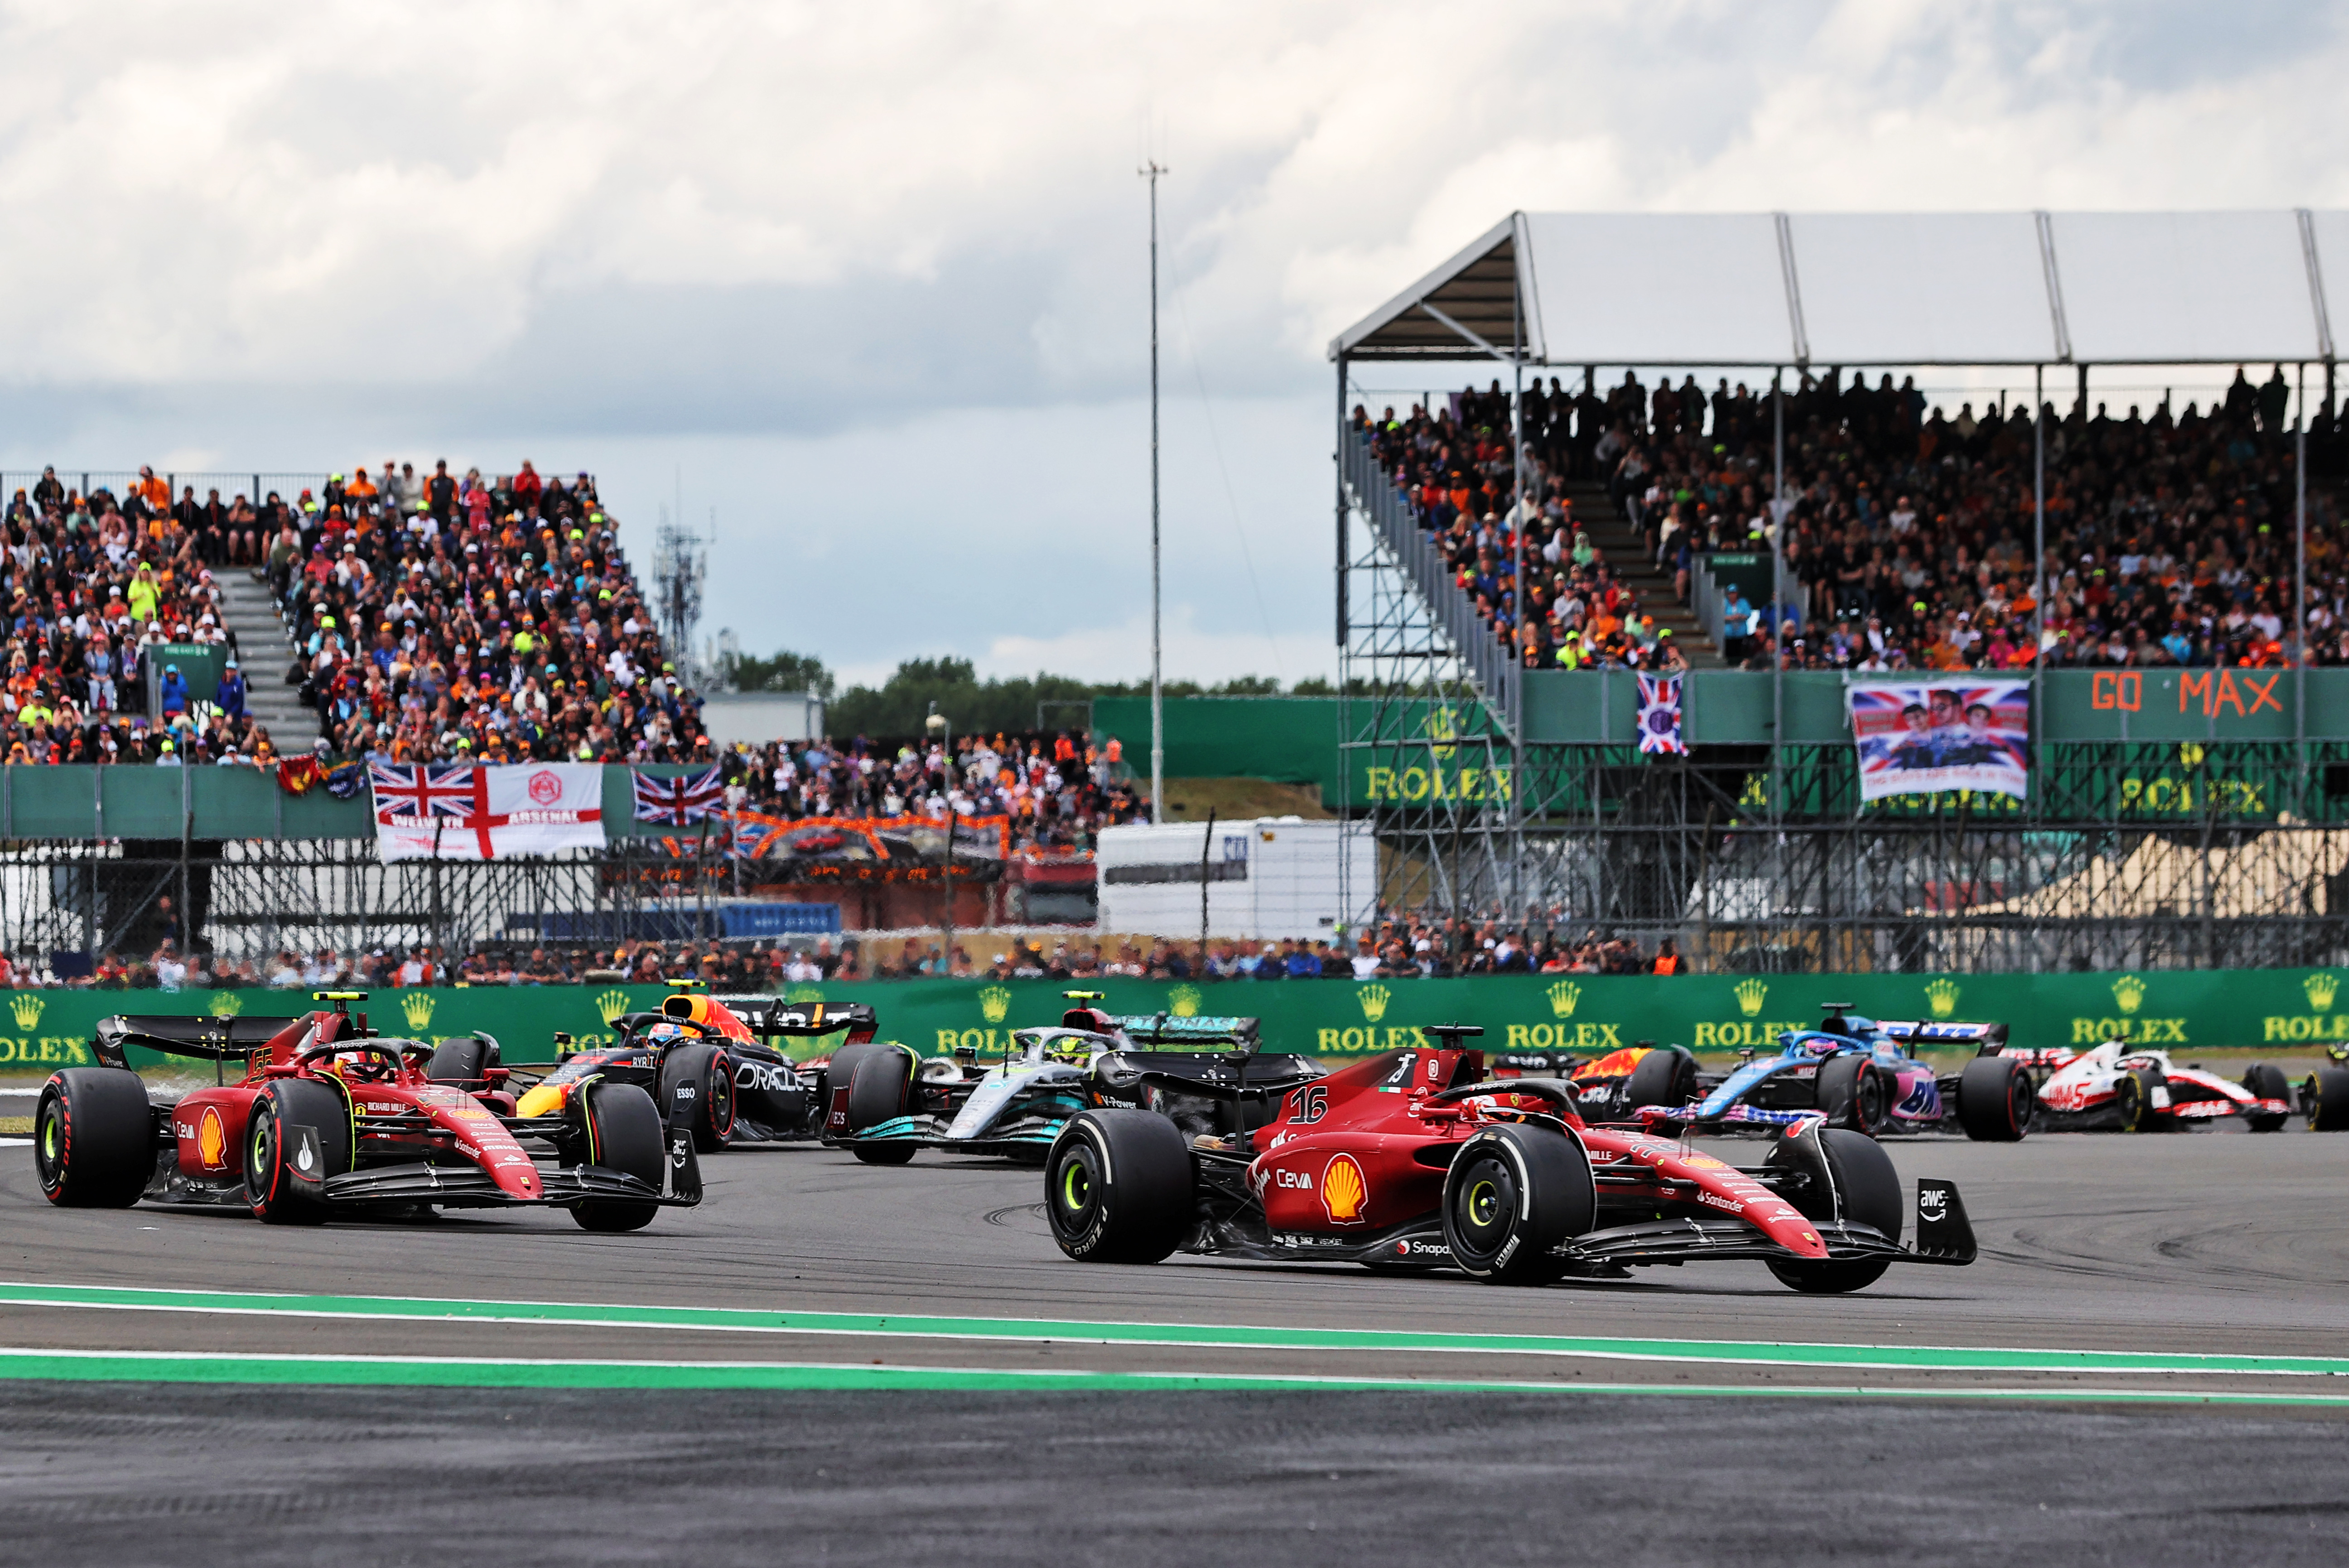
[(1055, 1028), (1015, 1028), (1003, 1056), (977, 1052), (923, 1061), (907, 1045), (841, 1047), (829, 1063), (824, 1143), (867, 1164), (904, 1164), (923, 1148), (949, 1155), (1043, 1160), (1071, 1115), (1135, 1106), (1167, 1124), (1205, 1129), (1250, 1108), (1257, 1122), (1280, 1094), (1320, 1075), (1304, 1056), (1257, 1052), (1254, 1019), (1116, 1016), (1071, 991)]

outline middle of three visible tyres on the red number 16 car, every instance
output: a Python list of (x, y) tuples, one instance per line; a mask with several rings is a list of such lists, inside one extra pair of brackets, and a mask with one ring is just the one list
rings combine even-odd
[(1569, 1263), (1553, 1249), (1590, 1230), (1597, 1188), (1590, 1155), (1548, 1127), (1487, 1127), (1461, 1143), (1445, 1174), (1445, 1242), (1485, 1284), (1548, 1284)]

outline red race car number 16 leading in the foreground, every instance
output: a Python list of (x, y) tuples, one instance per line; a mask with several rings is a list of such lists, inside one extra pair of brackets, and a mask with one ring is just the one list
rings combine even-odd
[(1459, 1268), (1487, 1284), (1618, 1279), (1651, 1263), (1755, 1258), (1809, 1293), (1893, 1263), (1973, 1263), (1957, 1185), (1907, 1204), (1875, 1138), (1804, 1117), (1759, 1167), (1590, 1127), (1569, 1082), (1485, 1077), (1470, 1026), (1421, 1030), (1292, 1089), (1254, 1131), (1184, 1136), (1149, 1110), (1083, 1110), (1045, 1160), (1052, 1239), (1081, 1263), (1233, 1258)]

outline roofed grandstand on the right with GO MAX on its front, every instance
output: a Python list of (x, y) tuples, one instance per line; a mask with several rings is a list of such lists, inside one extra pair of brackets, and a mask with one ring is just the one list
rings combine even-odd
[[(2344, 265), (2314, 211), (1499, 223), (1332, 343), (1381, 899), (1701, 967), (2349, 951)], [(2105, 406), (2091, 366), (2220, 385)], [(1684, 756), (1635, 749), (1630, 671), (1687, 674)], [(1844, 690), (1903, 676), (2027, 681), (2027, 796), (1863, 800)]]

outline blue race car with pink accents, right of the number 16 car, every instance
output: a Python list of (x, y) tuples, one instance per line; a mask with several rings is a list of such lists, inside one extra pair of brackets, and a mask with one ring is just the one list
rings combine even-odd
[[(1778, 1052), (1743, 1052), (1736, 1070), (1703, 1082), (1689, 1059), (1684, 1077), (1701, 1091), (1677, 1106), (1642, 1101), (1621, 1115), (1719, 1131), (1738, 1124), (1792, 1127), (1825, 1117), (1867, 1136), (1943, 1131), (2013, 1143), (2032, 1120), (2032, 1075), (2004, 1054), (2004, 1023), (1879, 1023), (1828, 1002), (1818, 1028), (1790, 1028)], [(1917, 1059), (1919, 1045), (1973, 1045), (1957, 1073)], [(1647, 1066), (1647, 1063), (1642, 1063)]]

